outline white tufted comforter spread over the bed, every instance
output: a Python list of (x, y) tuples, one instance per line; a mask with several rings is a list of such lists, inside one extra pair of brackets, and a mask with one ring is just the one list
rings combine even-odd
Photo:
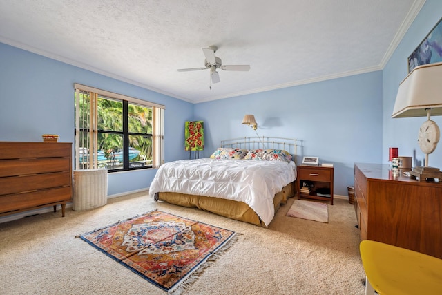
[(296, 179), (295, 173), (294, 162), (178, 160), (160, 166), (149, 193), (170, 191), (241, 201), (267, 226), (275, 215), (273, 196)]

